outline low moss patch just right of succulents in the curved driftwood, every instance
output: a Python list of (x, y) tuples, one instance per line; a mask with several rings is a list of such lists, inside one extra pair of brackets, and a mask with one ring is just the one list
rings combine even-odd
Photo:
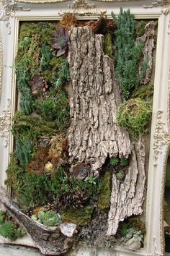
[(61, 213), (61, 219), (68, 223), (75, 223), (79, 226), (86, 226), (91, 221), (91, 213), (93, 212), (93, 208), (91, 206), (87, 206), (82, 209), (66, 209)]

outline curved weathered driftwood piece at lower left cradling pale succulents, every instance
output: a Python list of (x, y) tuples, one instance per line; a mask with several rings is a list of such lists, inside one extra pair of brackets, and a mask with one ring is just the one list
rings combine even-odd
[(27, 231), (27, 234), (30, 234), (42, 254), (63, 255), (73, 245), (74, 237), (64, 236), (61, 233), (63, 226), (48, 227), (33, 221), (19, 210), (3, 187), (0, 187), (0, 201), (14, 220)]

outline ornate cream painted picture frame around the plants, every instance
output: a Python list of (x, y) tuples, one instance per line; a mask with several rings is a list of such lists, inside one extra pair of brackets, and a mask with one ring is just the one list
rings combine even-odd
[[(79, 1), (79, 0), (78, 0)], [(1, 4), (2, 2), (2, 4)], [(13, 140), (10, 132), (11, 118), (16, 106), (16, 85), (14, 56), (17, 51), (19, 22), (24, 20), (60, 20), (58, 12), (69, 11), (71, 1), (58, 0), (4, 0), (0, 2), (0, 184), (4, 184), (5, 170), (12, 152)], [(19, 2), (19, 3), (18, 3)], [(86, 1), (85, 1), (86, 2)], [(146, 238), (144, 248), (137, 252), (117, 247), (115, 252), (97, 252), (97, 255), (164, 255), (163, 202), (166, 161), (170, 147), (170, 1), (89, 1), (95, 4), (91, 15), (81, 19), (96, 18), (97, 11), (107, 9), (107, 16), (120, 7), (130, 8), (135, 18), (158, 19), (158, 40), (156, 48), (156, 71), (153, 96), (153, 116), (151, 128), (150, 161), (148, 171), (148, 191), (146, 202)], [(34, 4), (33, 4), (34, 3)], [(46, 3), (46, 4), (42, 4)], [(147, 8), (146, 8), (147, 7)], [(94, 12), (94, 14), (93, 14)], [(82, 13), (81, 13), (82, 14)], [(1, 239), (1, 242), (8, 242)], [(33, 245), (30, 239), (22, 239), (17, 244)], [(84, 254), (86, 253), (86, 254)], [(89, 250), (79, 248), (75, 255), (89, 255)]]

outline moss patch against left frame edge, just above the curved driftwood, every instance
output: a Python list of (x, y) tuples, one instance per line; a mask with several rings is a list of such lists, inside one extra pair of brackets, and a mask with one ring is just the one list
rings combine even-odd
[(10, 163), (6, 170), (7, 179), (5, 184), (16, 192), (22, 186), (23, 168), (18, 166), (16, 153), (11, 154)]

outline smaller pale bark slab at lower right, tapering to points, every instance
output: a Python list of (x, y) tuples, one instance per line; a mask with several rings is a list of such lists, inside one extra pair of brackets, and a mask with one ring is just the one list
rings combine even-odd
[(109, 210), (109, 228), (107, 235), (114, 235), (120, 221), (143, 212), (142, 205), (145, 189), (145, 147), (140, 138), (132, 145), (130, 166), (125, 181), (120, 183), (115, 174), (112, 175), (112, 194)]

